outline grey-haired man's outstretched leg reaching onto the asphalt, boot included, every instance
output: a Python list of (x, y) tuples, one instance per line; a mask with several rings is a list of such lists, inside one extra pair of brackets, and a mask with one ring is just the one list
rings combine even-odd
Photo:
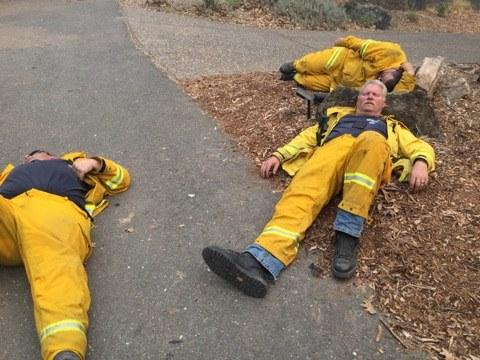
[(210, 269), (246, 295), (264, 297), (268, 282), (297, 255), (305, 231), (340, 189), (351, 136), (317, 149), (295, 175), (255, 244), (243, 253), (208, 246), (202, 256)]

